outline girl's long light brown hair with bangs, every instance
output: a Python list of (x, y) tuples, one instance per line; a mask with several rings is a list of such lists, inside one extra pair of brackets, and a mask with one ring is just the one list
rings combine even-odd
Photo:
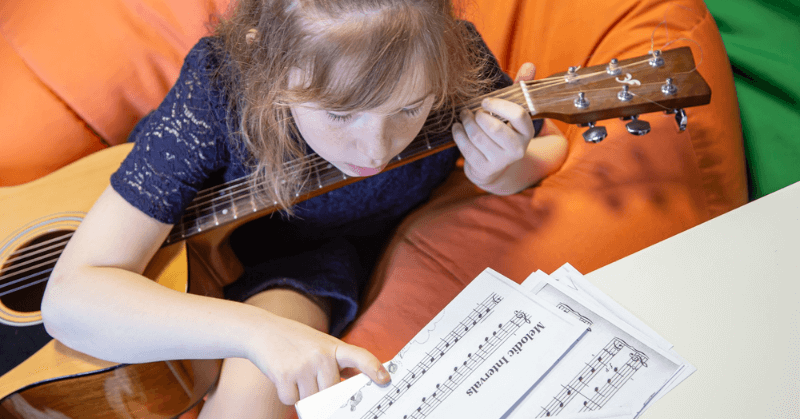
[[(289, 105), (374, 108), (421, 62), (433, 111), (452, 118), (488, 83), (476, 35), (450, 0), (239, 0), (215, 36), (234, 142), (252, 156), (265, 197), (289, 212), (307, 172), (297, 163), (308, 160)], [(292, 69), (305, 83), (290, 86)]]

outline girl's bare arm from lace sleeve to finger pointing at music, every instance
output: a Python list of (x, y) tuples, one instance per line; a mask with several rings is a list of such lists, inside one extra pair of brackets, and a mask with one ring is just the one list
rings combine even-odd
[(335, 384), (345, 367), (388, 381), (366, 350), (254, 306), (177, 292), (141, 276), (170, 229), (109, 187), (53, 270), (42, 301), (47, 332), (114, 362), (247, 358), (287, 404), (308, 395), (298, 387)]

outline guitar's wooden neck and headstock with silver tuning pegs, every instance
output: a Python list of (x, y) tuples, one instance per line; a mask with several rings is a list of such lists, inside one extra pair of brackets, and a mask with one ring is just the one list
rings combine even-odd
[[(696, 71), (691, 49), (682, 47), (520, 82), (471, 99), (462, 107), (478, 110), (487, 97), (514, 102), (533, 117), (594, 124), (599, 120), (705, 105), (711, 101), (711, 90)], [(387, 170), (452, 147), (452, 136), (448, 134), (451, 122), (447, 114), (429, 117), (422, 132), (392, 160)], [(315, 154), (309, 158), (311, 169), (296, 202), (361, 179), (345, 175)], [(261, 197), (259, 189), (252, 178), (245, 177), (202, 191), (165, 244), (278, 210), (275, 202)]]

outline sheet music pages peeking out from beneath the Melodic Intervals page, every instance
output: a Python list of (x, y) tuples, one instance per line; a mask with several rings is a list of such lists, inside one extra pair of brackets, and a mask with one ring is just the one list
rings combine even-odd
[[(590, 332), (508, 418), (572, 417), (581, 412), (620, 406), (632, 407), (638, 414), (680, 374), (681, 360), (660, 348), (650, 337), (616, 316), (599, 315), (587, 307), (592, 304), (572, 298), (578, 297), (574, 281), (565, 285), (542, 275), (530, 279), (538, 281), (533, 289), (537, 296), (579, 319)], [(531, 286), (527, 280), (523, 284)]]

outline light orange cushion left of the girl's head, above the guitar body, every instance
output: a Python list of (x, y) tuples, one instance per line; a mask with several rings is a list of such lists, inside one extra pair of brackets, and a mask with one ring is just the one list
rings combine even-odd
[(0, 89), (7, 107), (0, 124), (13, 128), (4, 129), (0, 149), (15, 151), (0, 157), (0, 185), (66, 165), (102, 148), (100, 138), (124, 142), (177, 79), (184, 56), (207, 33), (209, 16), (226, 4), (0, 2), (0, 62), (19, 82)]

